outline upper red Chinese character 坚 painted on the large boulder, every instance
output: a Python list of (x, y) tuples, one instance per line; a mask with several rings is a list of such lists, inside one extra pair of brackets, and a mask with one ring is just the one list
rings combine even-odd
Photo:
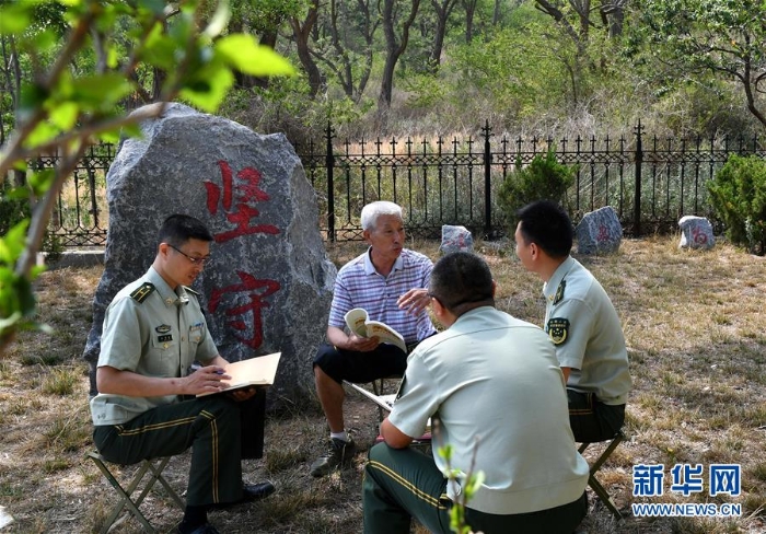
[(219, 205), (221, 205), (227, 220), (234, 223), (235, 228), (214, 234), (216, 243), (256, 233), (278, 234), (279, 229), (274, 224), (253, 224), (252, 222), (252, 219), (260, 214), (254, 205), (269, 199), (268, 194), (259, 186), (260, 171), (245, 167), (236, 173), (237, 179), (235, 181), (229, 163), (221, 160), (218, 162), (218, 166), (221, 169), (222, 185), (209, 181), (205, 182), (208, 194), (208, 211), (214, 216), (218, 213)]

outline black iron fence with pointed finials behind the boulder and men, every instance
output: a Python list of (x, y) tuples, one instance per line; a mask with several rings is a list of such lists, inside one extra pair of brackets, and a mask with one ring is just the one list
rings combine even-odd
[[(716, 223), (706, 183), (732, 153), (766, 156), (757, 138), (660, 139), (639, 124), (627, 137), (510, 138), (487, 123), (476, 137), (407, 137), (350, 141), (324, 138), (295, 146), (320, 200), (320, 227), (328, 241), (361, 239), (359, 212), (376, 199), (405, 208), (408, 232), (438, 236), (443, 224), (460, 224), (475, 235), (507, 232), (496, 195), (519, 165), (548, 150), (577, 169), (568, 191), (574, 222), (588, 211), (612, 206), (627, 235), (666, 232), (686, 214)], [(94, 147), (61, 193), (51, 230), (65, 246), (103, 245), (108, 213), (105, 175), (114, 148)], [(55, 164), (55, 156), (37, 166)]]

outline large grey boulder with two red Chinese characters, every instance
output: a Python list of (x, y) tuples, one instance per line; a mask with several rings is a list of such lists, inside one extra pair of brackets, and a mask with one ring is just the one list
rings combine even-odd
[(123, 142), (106, 177), (109, 231), (84, 358), (95, 363), (106, 306), (156, 254), (172, 213), (212, 231), (212, 260), (199, 293), (221, 356), (237, 361), (281, 351), (271, 398), (313, 387), (311, 361), (324, 339), (333, 282), (318, 231), (316, 197), (283, 135), (262, 136), (234, 121), (170, 104)]

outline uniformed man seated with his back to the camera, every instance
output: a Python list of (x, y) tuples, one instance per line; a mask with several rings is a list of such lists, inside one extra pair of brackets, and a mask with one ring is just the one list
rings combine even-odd
[[(431, 272), (431, 309), (445, 330), (409, 355), (399, 396), (370, 449), (362, 483), (364, 534), (407, 534), (411, 518), (450, 533), (450, 508), (468, 472), (485, 475), (466, 503), (474, 532), (571, 534), (588, 511), (588, 463), (577, 452), (564, 376), (537, 326), (495, 307), (478, 256), (457, 252)], [(408, 446), (429, 418), (433, 450)], [(475, 455), (475, 461), (474, 461)]]

